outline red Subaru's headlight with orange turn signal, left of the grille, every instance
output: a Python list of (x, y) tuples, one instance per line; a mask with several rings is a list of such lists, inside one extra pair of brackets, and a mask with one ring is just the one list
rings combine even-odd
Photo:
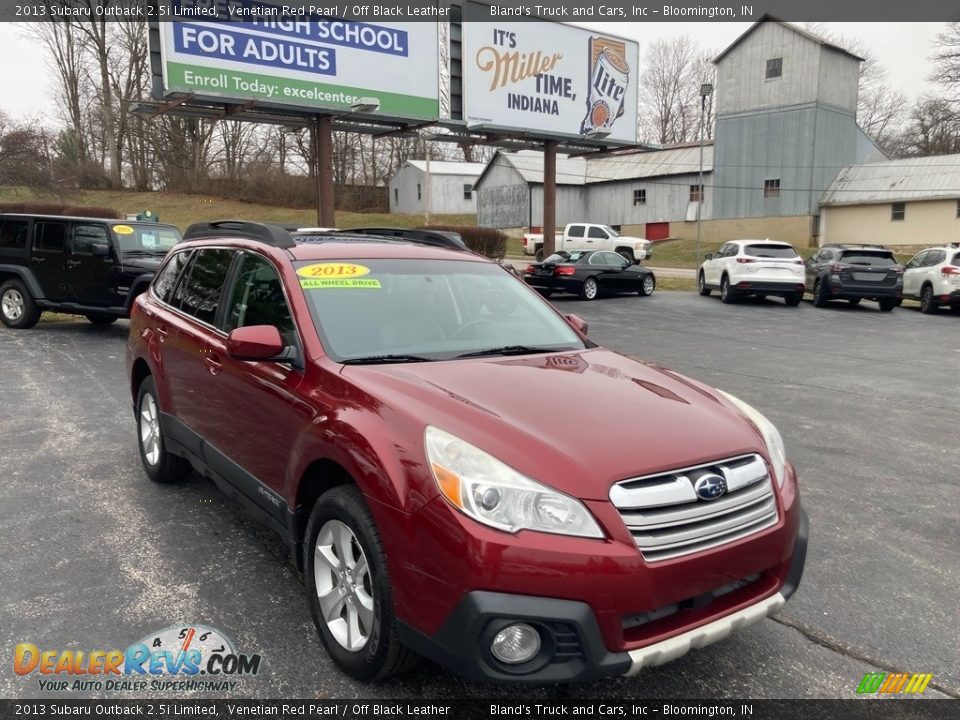
[(480, 448), (427, 427), (427, 460), (441, 494), (455, 508), (490, 527), (602, 538), (583, 504), (531, 480)]

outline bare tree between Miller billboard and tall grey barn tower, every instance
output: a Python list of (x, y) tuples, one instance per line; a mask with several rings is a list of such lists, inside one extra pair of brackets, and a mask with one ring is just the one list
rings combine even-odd
[[(688, 35), (657, 40), (647, 50), (640, 74), (640, 137), (661, 145), (699, 137), (700, 86), (713, 81), (709, 55)], [(705, 136), (712, 135), (711, 117)]]

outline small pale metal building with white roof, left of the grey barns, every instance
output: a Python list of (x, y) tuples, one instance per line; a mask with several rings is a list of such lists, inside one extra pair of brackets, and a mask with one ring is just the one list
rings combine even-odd
[[(430, 162), (430, 212), (475, 213), (473, 185), (483, 163)], [(427, 209), (427, 163), (408, 160), (390, 180), (390, 212), (423, 213)]]

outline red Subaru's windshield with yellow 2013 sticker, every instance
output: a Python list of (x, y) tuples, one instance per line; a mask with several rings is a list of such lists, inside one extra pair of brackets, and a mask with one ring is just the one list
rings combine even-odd
[(586, 347), (535, 292), (493, 263), (380, 259), (296, 268), (324, 347), (341, 362)]

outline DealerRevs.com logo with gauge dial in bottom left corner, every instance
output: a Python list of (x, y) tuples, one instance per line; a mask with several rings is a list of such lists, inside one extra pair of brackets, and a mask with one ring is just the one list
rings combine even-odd
[(239, 653), (219, 630), (165, 628), (126, 650), (14, 649), (17, 675), (38, 676), (43, 691), (230, 691), (260, 671), (260, 655)]

